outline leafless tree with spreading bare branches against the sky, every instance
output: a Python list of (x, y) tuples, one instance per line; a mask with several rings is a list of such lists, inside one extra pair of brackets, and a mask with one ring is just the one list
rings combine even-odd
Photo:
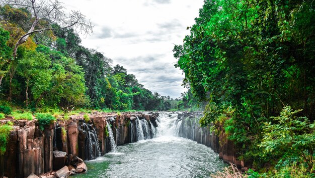
[[(61, 30), (72, 27), (76, 32), (83, 34), (92, 34), (91, 21), (87, 21), (86, 17), (79, 11), (65, 12), (65, 8), (58, 0), (0, 0), (3, 5), (9, 5), (13, 8), (26, 8), (32, 14), (32, 26), (29, 31), (22, 35), (17, 41), (13, 56), (17, 55), (17, 49), (26, 42), (27, 38), (37, 32), (48, 30)], [(38, 24), (41, 23), (39, 27)], [(42, 25), (44, 24), (44, 25)], [(60, 26), (58, 29), (52, 27), (53, 24)]]

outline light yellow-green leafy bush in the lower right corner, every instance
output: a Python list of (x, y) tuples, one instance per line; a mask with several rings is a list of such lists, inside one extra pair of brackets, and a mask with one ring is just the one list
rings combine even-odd
[(293, 169), (295, 173), (315, 173), (315, 124), (306, 117), (297, 117), (300, 111), (284, 107), (280, 116), (272, 117), (274, 123), (265, 123), (259, 145), (264, 150), (263, 156), (272, 154), (273, 159), (279, 160), (277, 170), (291, 175)]

